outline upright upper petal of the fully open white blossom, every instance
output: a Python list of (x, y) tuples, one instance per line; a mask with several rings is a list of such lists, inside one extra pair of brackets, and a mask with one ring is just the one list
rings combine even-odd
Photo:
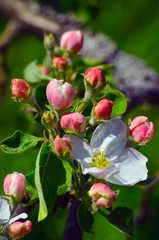
[(113, 118), (95, 129), (90, 146), (94, 155), (97, 151), (104, 151), (106, 159), (111, 161), (123, 151), (126, 142), (126, 125), (122, 120)]

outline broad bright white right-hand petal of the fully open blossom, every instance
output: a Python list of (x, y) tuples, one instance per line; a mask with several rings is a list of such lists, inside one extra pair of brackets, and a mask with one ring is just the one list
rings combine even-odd
[(147, 179), (147, 158), (132, 148), (125, 148), (113, 162), (118, 171), (107, 177), (107, 181), (118, 185), (132, 186)]

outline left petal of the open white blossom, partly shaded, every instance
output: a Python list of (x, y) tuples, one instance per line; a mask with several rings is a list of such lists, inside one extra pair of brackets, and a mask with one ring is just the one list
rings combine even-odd
[(78, 162), (83, 162), (86, 166), (90, 166), (92, 162), (90, 146), (75, 135), (70, 134), (67, 135), (67, 137), (69, 137), (73, 142), (73, 158), (75, 158)]

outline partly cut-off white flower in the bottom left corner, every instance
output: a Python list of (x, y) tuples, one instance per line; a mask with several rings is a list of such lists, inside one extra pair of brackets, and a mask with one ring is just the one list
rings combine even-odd
[[(28, 217), (26, 213), (21, 213), (13, 218), (11, 217), (11, 211), (9, 203), (6, 199), (0, 197), (0, 233), (2, 233), (9, 225), (18, 219), (25, 219)], [(0, 240), (5, 240), (6, 237), (0, 235)]]

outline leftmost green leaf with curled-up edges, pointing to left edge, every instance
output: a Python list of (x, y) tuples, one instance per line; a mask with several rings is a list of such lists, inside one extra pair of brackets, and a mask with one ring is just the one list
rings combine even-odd
[(6, 153), (21, 153), (36, 146), (38, 141), (41, 140), (41, 138), (23, 133), (18, 130), (12, 136), (4, 139), (0, 146), (1, 149)]

